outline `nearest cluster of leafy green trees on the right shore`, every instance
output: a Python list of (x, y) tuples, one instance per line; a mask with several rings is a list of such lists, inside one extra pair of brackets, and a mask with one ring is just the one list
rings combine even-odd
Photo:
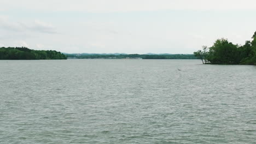
[(245, 45), (235, 45), (222, 38), (217, 39), (213, 46), (202, 48), (194, 52), (202, 63), (256, 65), (256, 32), (252, 36), (252, 41), (247, 40)]

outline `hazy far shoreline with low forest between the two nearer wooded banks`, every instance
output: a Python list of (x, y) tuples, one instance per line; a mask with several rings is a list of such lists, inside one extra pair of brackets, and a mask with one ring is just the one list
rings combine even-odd
[(138, 55), (138, 54), (120, 54), (120, 55), (112, 55), (112, 54), (66, 54), (68, 58), (79, 58), (79, 59), (125, 59), (125, 58), (142, 58), (142, 59), (197, 59), (194, 55)]

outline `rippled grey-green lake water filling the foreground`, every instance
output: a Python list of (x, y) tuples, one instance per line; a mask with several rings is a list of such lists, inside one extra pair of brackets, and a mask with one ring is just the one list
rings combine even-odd
[(0, 104), (3, 144), (256, 143), (251, 65), (0, 61)]

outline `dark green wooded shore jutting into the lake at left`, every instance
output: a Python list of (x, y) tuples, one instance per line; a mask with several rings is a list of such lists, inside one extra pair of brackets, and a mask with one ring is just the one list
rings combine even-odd
[(27, 47), (0, 47), (0, 59), (67, 59), (57, 51), (31, 50)]

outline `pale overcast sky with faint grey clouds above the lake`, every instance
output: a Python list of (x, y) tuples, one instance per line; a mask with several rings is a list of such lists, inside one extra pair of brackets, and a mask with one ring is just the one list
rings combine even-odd
[(0, 47), (67, 53), (193, 53), (244, 44), (255, 0), (0, 0)]

